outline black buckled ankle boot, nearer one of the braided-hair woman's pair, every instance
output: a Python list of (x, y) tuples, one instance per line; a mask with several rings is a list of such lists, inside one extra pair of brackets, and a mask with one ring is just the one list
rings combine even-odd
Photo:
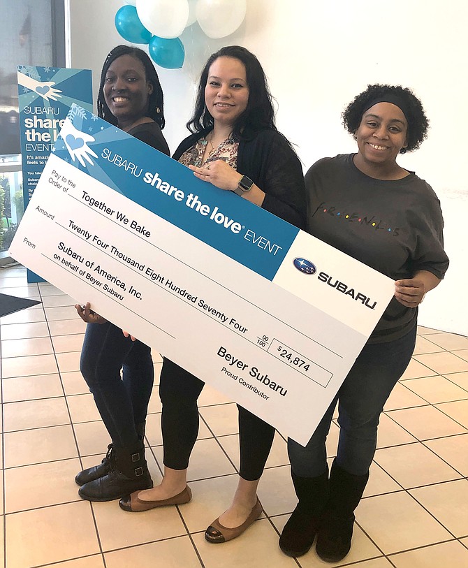
[(112, 501), (133, 491), (151, 489), (153, 482), (145, 460), (145, 446), (140, 441), (133, 448), (113, 448), (110, 472), (85, 483), (78, 494), (88, 501)]

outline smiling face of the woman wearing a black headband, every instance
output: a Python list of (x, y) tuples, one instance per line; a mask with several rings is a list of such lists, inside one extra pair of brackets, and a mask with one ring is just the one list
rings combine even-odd
[(401, 108), (392, 103), (372, 106), (364, 112), (356, 131), (358, 161), (373, 167), (395, 166), (400, 150), (408, 145), (407, 131), (408, 122)]

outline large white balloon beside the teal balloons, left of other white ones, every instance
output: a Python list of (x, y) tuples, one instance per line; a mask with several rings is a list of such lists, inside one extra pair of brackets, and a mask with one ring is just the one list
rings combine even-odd
[(141, 23), (154, 36), (177, 38), (189, 19), (188, 0), (136, 0)]

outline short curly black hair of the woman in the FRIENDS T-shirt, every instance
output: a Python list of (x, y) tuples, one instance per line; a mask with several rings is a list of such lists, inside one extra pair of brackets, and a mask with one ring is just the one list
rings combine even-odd
[(421, 101), (407, 87), (401, 87), (400, 85), (367, 85), (367, 89), (358, 94), (344, 109), (342, 114), (343, 125), (349, 133), (356, 133), (367, 105), (372, 103), (374, 99), (379, 99), (381, 96), (389, 94), (400, 97), (406, 105), (405, 116), (408, 121), (408, 145), (400, 150), (400, 154), (417, 150), (427, 138), (429, 120), (427, 120)]

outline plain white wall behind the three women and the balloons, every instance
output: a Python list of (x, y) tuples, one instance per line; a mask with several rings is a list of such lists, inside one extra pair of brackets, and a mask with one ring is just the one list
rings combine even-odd
[[(105, 55), (125, 43), (114, 26), (123, 1), (70, 3), (71, 63), (92, 68), (97, 86)], [(467, 21), (463, 0), (247, 0), (246, 20), (235, 34), (211, 40), (195, 24), (182, 36), (182, 70), (158, 69), (170, 149), (186, 136), (197, 75), (221, 45), (244, 45), (260, 59), (277, 99), (277, 126), (295, 143), (305, 170), (322, 156), (355, 150), (340, 114), (367, 83), (411, 87), (430, 118), (430, 137), (400, 164), (416, 170), (439, 195), (451, 258), (419, 321), (468, 335)]]

